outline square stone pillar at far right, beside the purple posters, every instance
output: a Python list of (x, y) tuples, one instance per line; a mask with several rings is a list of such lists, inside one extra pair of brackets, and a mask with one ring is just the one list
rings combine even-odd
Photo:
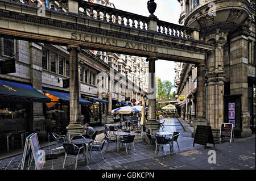
[(250, 112), (248, 111), (248, 54), (247, 35), (249, 31), (242, 27), (240, 32), (230, 39), (230, 95), (241, 94), (242, 132), (241, 137), (250, 137)]

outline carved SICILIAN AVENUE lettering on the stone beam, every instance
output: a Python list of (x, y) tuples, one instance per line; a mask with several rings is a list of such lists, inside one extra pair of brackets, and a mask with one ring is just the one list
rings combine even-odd
[[(112, 45), (116, 47), (121, 47), (120, 44), (118, 44), (118, 40), (107, 39), (104, 37), (90, 36), (90, 35), (82, 35), (80, 33), (71, 33), (71, 39), (86, 41), (90, 43), (98, 43), (103, 45)], [(137, 50), (143, 50), (147, 52), (158, 52), (158, 47), (137, 44), (137, 43), (130, 43), (130, 42), (126, 42), (125, 44), (123, 44), (123, 48), (137, 49)]]

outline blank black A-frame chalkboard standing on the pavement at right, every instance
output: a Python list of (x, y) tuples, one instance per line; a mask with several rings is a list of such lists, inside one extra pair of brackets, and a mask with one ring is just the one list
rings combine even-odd
[(206, 149), (208, 143), (213, 144), (215, 148), (212, 127), (197, 125), (193, 146), (195, 146), (195, 144), (204, 145)]

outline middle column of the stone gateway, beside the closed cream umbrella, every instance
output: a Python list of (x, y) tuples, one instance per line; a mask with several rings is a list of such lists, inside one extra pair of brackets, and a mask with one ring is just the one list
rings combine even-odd
[(155, 61), (158, 58), (147, 58), (148, 63), (148, 121), (145, 124), (146, 131), (154, 134), (159, 131), (160, 123), (156, 121), (156, 85), (155, 85)]

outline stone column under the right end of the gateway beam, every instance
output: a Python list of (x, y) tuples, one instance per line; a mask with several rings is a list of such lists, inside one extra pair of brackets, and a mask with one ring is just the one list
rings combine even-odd
[(197, 125), (207, 125), (208, 121), (204, 117), (204, 64), (197, 65), (197, 88), (196, 88), (196, 119), (193, 121), (195, 137)]

